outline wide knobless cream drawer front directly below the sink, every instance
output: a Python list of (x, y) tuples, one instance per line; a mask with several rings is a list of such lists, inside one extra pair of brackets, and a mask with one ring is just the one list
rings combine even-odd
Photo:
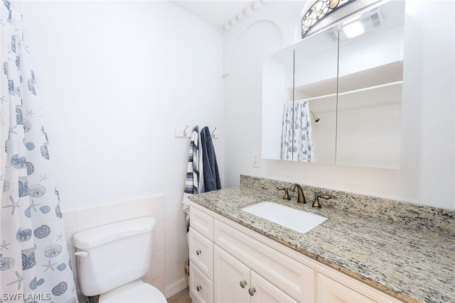
[(315, 271), (278, 250), (215, 220), (215, 244), (280, 290), (301, 302), (314, 302)]

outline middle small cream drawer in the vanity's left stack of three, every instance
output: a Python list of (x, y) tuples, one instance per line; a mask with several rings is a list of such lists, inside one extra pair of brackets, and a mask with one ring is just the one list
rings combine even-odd
[(213, 280), (213, 242), (190, 227), (190, 260), (210, 280)]

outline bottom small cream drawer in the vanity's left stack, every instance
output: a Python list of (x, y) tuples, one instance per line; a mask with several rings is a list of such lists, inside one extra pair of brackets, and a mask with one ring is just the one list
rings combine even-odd
[(213, 302), (213, 282), (190, 261), (190, 297), (195, 302)]

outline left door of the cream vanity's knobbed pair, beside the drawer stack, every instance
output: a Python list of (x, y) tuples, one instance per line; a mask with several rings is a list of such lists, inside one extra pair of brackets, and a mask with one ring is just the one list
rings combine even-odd
[(215, 302), (250, 302), (250, 268), (218, 246), (213, 250), (213, 263)]

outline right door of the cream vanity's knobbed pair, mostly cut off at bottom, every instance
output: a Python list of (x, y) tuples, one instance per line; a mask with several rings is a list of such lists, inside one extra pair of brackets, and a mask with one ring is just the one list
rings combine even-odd
[(248, 290), (252, 295), (251, 303), (297, 302), (254, 271), (251, 272), (251, 285)]

